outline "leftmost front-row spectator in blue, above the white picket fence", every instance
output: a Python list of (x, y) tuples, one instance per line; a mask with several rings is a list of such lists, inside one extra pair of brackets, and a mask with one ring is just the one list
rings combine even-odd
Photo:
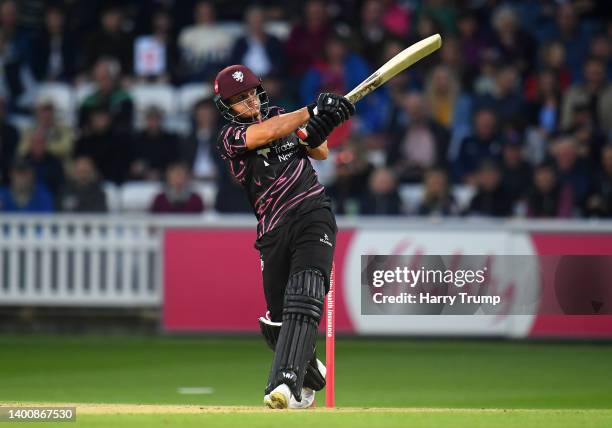
[(53, 211), (53, 197), (37, 183), (34, 168), (25, 160), (11, 167), (11, 186), (0, 188), (0, 211), (43, 213)]

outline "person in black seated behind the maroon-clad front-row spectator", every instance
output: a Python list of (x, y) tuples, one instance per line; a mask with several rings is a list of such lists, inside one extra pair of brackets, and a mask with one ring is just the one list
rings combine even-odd
[(163, 111), (150, 107), (145, 128), (132, 141), (130, 179), (160, 181), (164, 171), (179, 158), (178, 137), (163, 129)]

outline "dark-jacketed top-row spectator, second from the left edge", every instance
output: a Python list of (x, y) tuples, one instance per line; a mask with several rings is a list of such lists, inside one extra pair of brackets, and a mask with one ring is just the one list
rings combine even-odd
[(76, 41), (68, 31), (63, 10), (51, 5), (45, 13), (45, 27), (34, 41), (32, 71), (39, 81), (72, 82), (76, 67)]

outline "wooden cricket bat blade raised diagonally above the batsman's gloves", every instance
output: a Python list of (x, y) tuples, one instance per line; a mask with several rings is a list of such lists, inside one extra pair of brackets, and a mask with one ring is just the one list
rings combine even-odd
[[(439, 34), (434, 34), (420, 42), (416, 42), (383, 64), (378, 70), (372, 73), (370, 77), (346, 94), (345, 97), (353, 104), (356, 104), (357, 101), (374, 91), (376, 88), (384, 85), (393, 76), (438, 50), (440, 46), (442, 46), (442, 37), (440, 37)], [(317, 109), (315, 108), (314, 111), (316, 114)], [(308, 137), (305, 127), (298, 129), (296, 134), (301, 140)]]

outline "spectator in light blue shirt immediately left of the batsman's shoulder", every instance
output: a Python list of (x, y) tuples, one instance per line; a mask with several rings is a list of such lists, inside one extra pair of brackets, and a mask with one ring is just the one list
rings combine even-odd
[(196, 103), (193, 108), (193, 130), (181, 142), (181, 159), (198, 180), (212, 179), (219, 172), (214, 151), (218, 127), (217, 108), (212, 100), (209, 98)]

